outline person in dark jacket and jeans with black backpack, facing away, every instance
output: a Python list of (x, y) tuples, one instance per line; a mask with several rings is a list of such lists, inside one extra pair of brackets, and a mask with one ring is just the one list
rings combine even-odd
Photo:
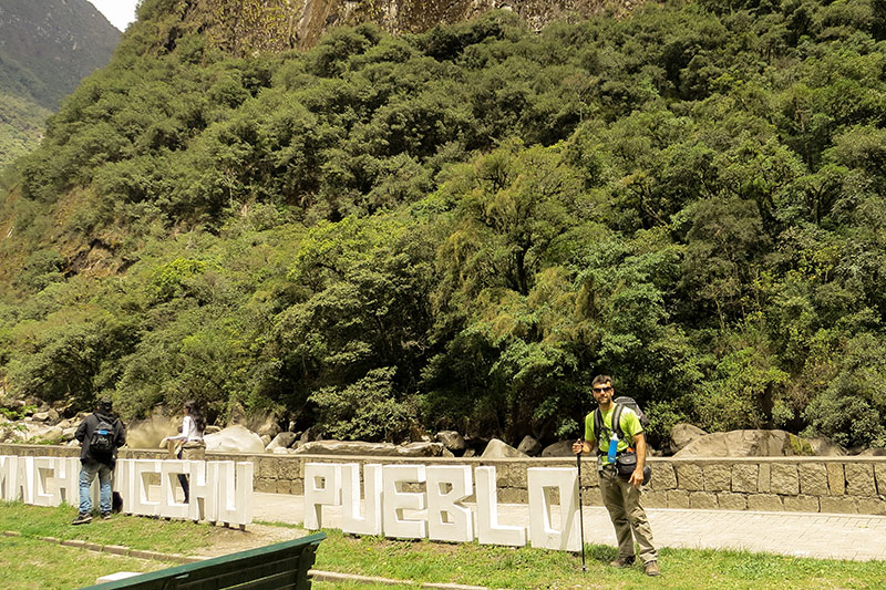
[(80, 514), (72, 525), (85, 525), (92, 520), (92, 495), (90, 488), (99, 476), (102, 518), (111, 518), (111, 478), (117, 462), (117, 448), (126, 444), (126, 429), (113, 414), (110, 400), (102, 400), (93, 414), (86, 416), (76, 428), (74, 438), (80, 443)]

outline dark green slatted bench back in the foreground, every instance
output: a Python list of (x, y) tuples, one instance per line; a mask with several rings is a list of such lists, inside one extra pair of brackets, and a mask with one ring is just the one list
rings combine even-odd
[(326, 532), (316, 532), (291, 541), (90, 586), (89, 590), (309, 589), (311, 580), (308, 570), (313, 566), (317, 546), (323, 539)]

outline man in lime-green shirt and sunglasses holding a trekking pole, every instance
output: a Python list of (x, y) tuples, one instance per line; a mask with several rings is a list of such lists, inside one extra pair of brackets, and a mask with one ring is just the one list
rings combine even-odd
[(573, 444), (573, 453), (597, 449), (602, 504), (609, 510), (618, 539), (618, 558), (610, 566), (627, 568), (633, 563), (636, 539), (647, 576), (658, 576), (658, 551), (641, 501), (640, 486), (650, 476), (642, 412), (630, 397), (614, 401), (615, 387), (609, 375), (594, 377), (591, 389), (597, 410), (585, 417), (585, 437)]

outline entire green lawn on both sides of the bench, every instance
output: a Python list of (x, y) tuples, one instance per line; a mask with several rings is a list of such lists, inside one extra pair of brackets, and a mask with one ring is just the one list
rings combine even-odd
[[(152, 571), (174, 565), (61, 547), (39, 540), (39, 537), (193, 555), (234, 532), (190, 521), (125, 516), (72, 527), (70, 521), (75, 513), (69, 506), (41, 508), (18, 503), (0, 504), (0, 531), (22, 535), (0, 537), (0, 568), (4, 575), (0, 588), (72, 589), (94, 583), (103, 573)], [(291, 526), (286, 528), (292, 529), (293, 537), (302, 535)], [(886, 561), (663, 549), (660, 559), (662, 576), (652, 579), (647, 578), (639, 566), (626, 570), (610, 568), (607, 563), (615, 558), (616, 549), (606, 546), (587, 546), (587, 571), (583, 572), (580, 557), (564, 551), (354, 538), (337, 530), (326, 532), (328, 538), (320, 544), (316, 569), (413, 580), (416, 583), (451, 582), (515, 589), (886, 589)], [(268, 540), (268, 544), (277, 540)], [(391, 588), (319, 581), (313, 587), (320, 590)]]

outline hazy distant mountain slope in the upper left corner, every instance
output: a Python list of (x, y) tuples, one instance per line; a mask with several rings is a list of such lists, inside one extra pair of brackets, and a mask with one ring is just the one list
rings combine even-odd
[(37, 147), (47, 116), (119, 40), (86, 0), (0, 0), (0, 169)]

